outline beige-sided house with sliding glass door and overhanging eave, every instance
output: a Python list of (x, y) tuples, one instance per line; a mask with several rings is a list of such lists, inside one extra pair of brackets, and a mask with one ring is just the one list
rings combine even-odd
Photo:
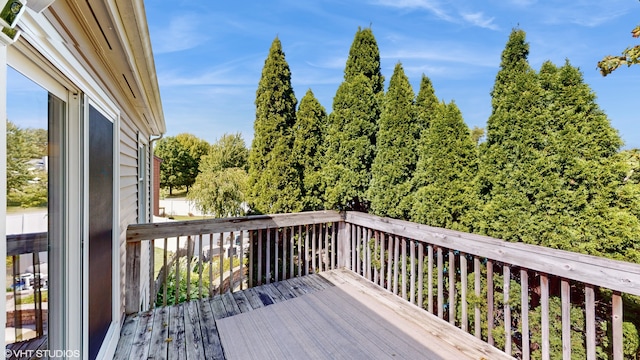
[[(7, 102), (10, 67), (48, 93), (42, 104), (26, 105), (42, 106), (48, 114), (48, 230), (42, 237), (48, 250), (48, 308), (38, 334), (44, 348), (111, 359), (124, 319), (125, 231), (151, 218), (157, 197), (151, 190), (151, 147), (165, 132), (144, 4), (28, 0), (24, 5), (24, 0), (0, 1), (1, 8), (14, 11), (0, 24), (0, 151), (6, 158), (4, 119), (7, 107), (16, 106)], [(7, 168), (1, 164), (4, 189)], [(7, 238), (0, 253), (18, 251), (9, 243), (4, 220), (0, 232)], [(35, 249), (33, 244), (20, 246)], [(0, 258), (6, 269), (6, 256)], [(140, 259), (148, 262), (144, 252)], [(3, 297), (12, 295), (0, 288)], [(135, 291), (148, 297), (144, 288)], [(9, 301), (0, 304), (0, 323), (8, 328), (13, 316), (20, 320)]]

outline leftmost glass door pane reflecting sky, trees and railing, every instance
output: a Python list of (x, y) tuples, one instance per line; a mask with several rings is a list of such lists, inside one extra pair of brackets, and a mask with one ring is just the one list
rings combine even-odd
[(49, 93), (7, 69), (5, 343), (46, 347), (49, 303)]

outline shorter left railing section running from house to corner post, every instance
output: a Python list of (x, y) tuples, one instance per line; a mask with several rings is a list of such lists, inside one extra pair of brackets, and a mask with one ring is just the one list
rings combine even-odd
[[(162, 305), (175, 304), (333, 269), (338, 259), (332, 249), (341, 221), (338, 212), (319, 211), (131, 225), (127, 229), (126, 311), (152, 307), (157, 295)], [(153, 266), (140, 267), (142, 244), (147, 241), (152, 249), (164, 249), (157, 271)], [(148, 259), (152, 265), (153, 253)], [(148, 304), (139, 291), (145, 279), (151, 294)], [(176, 284), (183, 284), (184, 293)]]

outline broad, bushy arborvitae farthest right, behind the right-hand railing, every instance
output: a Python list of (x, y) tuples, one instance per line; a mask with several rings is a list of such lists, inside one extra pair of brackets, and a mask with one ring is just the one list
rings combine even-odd
[(543, 183), (535, 194), (532, 223), (541, 245), (640, 261), (637, 184), (625, 182), (622, 140), (596, 104), (579, 69), (547, 62), (545, 159), (536, 168)]

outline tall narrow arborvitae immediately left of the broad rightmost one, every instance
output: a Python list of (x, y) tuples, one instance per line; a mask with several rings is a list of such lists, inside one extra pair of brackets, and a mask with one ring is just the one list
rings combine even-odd
[(543, 157), (542, 90), (528, 55), (524, 31), (513, 30), (502, 52), (487, 138), (480, 149), (477, 184), (485, 204), (478, 209), (476, 231), (509, 241), (523, 241), (522, 229), (530, 225), (532, 198), (541, 181), (533, 164)]

